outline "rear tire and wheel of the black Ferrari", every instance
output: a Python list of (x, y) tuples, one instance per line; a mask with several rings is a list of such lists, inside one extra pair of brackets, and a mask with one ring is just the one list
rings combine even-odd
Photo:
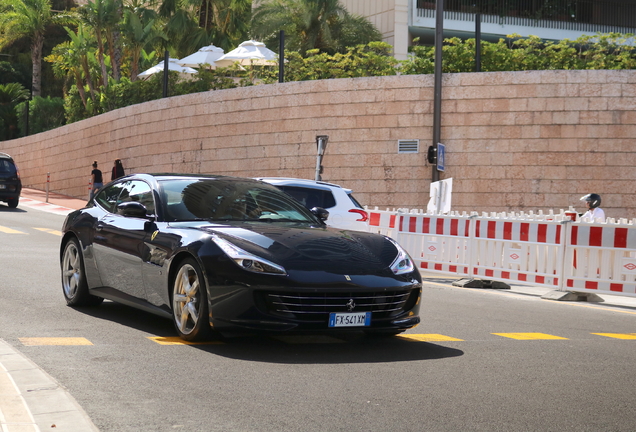
[(84, 257), (76, 238), (73, 237), (66, 242), (60, 267), (62, 269), (62, 292), (67, 305), (98, 306), (104, 301), (103, 298), (88, 292)]

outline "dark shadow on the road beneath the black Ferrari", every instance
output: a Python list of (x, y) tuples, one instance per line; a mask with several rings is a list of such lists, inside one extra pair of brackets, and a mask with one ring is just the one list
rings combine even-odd
[[(176, 337), (170, 320), (119, 303), (105, 301), (96, 308), (76, 310), (152, 336)], [(401, 337), (368, 337), (362, 332), (243, 336), (190, 345), (187, 348), (236, 360), (282, 364), (387, 363), (439, 360), (464, 354), (461, 350), (434, 343)]]

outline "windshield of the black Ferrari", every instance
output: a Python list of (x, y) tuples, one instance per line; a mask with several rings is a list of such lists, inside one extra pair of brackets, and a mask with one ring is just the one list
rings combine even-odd
[(275, 187), (243, 179), (161, 180), (166, 221), (292, 221), (317, 218)]

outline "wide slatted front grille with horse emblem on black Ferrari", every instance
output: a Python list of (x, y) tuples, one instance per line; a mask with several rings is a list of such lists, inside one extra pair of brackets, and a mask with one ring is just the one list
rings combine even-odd
[(332, 312), (373, 312), (374, 318), (381, 319), (412, 308), (418, 291), (267, 292), (264, 297), (268, 313), (300, 321), (327, 320)]

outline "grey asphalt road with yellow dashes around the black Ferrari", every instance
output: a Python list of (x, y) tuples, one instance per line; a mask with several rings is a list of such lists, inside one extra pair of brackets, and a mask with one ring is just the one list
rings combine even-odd
[(635, 307), (428, 278), (406, 337), (172, 345), (167, 320), (66, 306), (63, 219), (0, 204), (0, 338), (101, 431), (636, 430)]

